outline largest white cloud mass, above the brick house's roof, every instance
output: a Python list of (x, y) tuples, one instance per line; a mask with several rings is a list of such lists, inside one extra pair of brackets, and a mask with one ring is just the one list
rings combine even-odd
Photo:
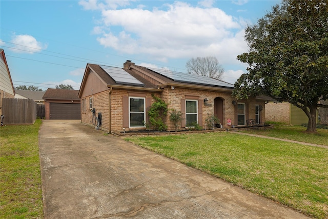
[(94, 1), (83, 3), (101, 11), (101, 22), (92, 30), (99, 44), (122, 54), (146, 55), (159, 62), (215, 56), (222, 65), (241, 65), (237, 55), (248, 50), (247, 22), (213, 8), (213, 1), (198, 2), (202, 7), (177, 1), (152, 10), (113, 9), (106, 1), (102, 6)]

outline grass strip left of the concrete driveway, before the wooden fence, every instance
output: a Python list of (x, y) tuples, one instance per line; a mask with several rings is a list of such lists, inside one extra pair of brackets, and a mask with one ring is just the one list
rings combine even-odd
[(1, 127), (0, 218), (43, 218), (38, 153), (41, 123)]

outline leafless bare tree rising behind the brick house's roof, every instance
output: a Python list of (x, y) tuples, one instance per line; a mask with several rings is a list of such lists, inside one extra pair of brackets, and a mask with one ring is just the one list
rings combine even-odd
[(217, 58), (213, 56), (191, 58), (188, 60), (186, 67), (190, 74), (197, 74), (215, 79), (221, 79), (224, 72)]

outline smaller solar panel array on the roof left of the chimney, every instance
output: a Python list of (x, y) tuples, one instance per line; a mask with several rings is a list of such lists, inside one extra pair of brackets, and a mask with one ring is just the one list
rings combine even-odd
[(100, 67), (113, 78), (116, 84), (145, 86), (144, 83), (140, 82), (137, 78), (126, 72), (124, 69), (104, 65), (100, 65)]

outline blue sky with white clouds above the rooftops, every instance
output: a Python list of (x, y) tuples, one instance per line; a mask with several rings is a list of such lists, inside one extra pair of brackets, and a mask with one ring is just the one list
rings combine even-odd
[(78, 90), (88, 63), (187, 72), (214, 56), (222, 80), (247, 73), (244, 29), (281, 1), (0, 1), (0, 48), (14, 86)]

